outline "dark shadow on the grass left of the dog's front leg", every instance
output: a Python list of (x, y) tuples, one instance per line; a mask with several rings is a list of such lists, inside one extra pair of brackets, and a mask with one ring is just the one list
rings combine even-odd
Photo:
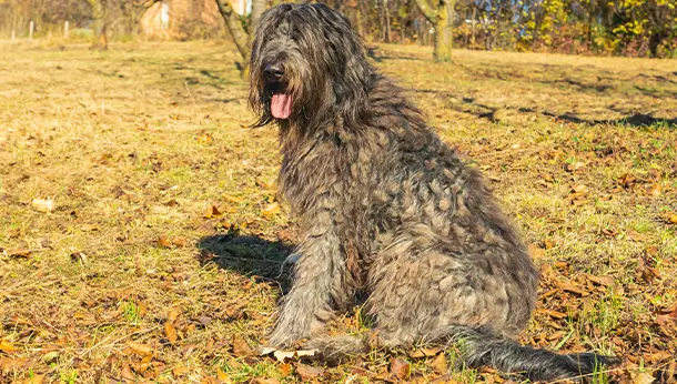
[(286, 292), (291, 282), (287, 257), (295, 245), (284, 240), (269, 241), (255, 235), (234, 232), (200, 239), (200, 262), (246, 276), (272, 281)]

